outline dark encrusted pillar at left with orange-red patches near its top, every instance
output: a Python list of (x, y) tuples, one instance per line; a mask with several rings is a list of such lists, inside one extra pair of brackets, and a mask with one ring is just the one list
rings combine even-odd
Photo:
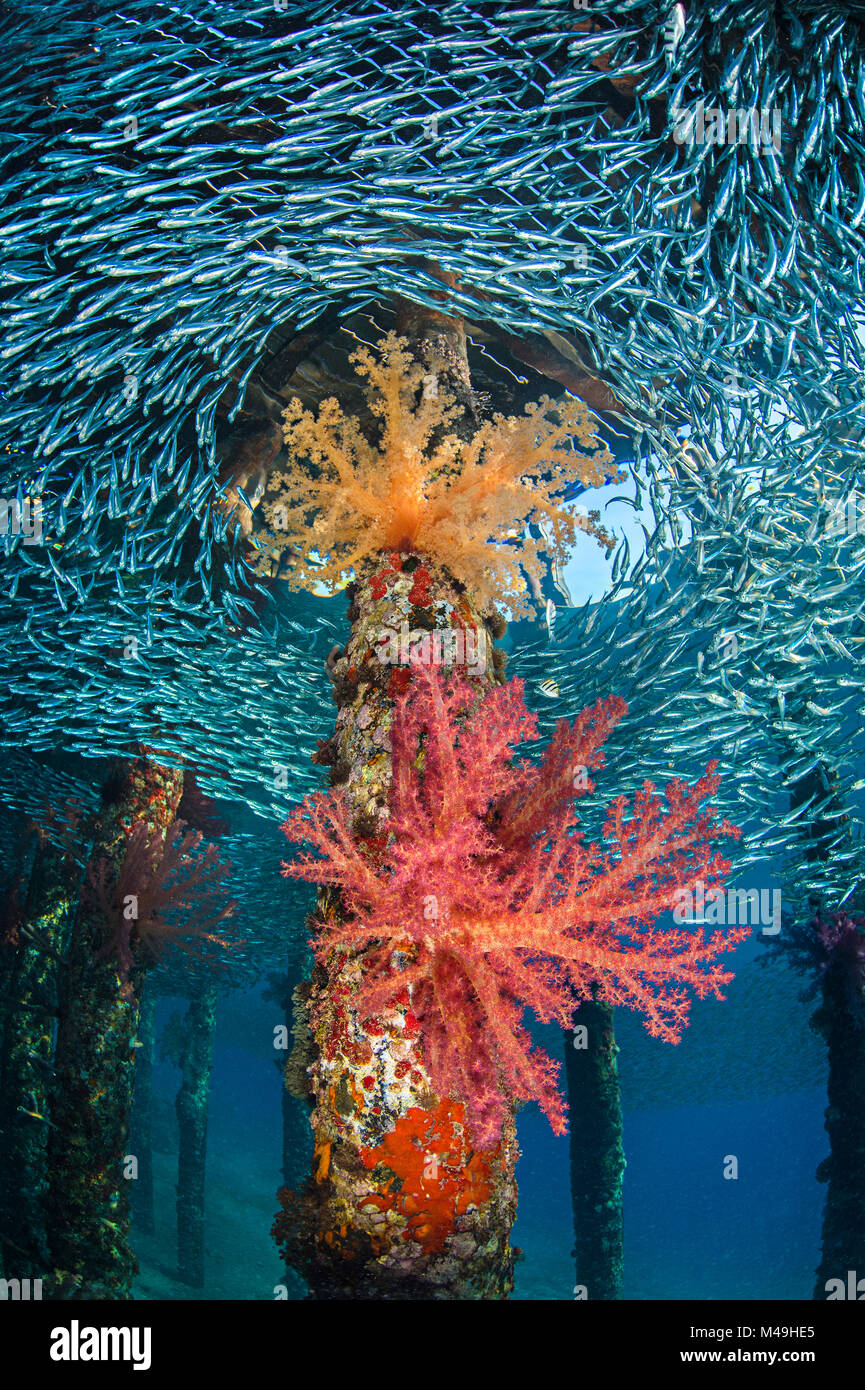
[[(97, 824), (93, 860), (107, 860), (117, 876), (132, 824), (164, 834), (182, 785), (181, 771), (149, 759), (122, 764)], [(121, 979), (104, 954), (111, 927), (82, 898), (60, 995), (49, 1140), (46, 1225), (56, 1298), (129, 1298), (136, 1270), (128, 1200), (135, 1155), (125, 1150), (145, 966), (135, 958)]]

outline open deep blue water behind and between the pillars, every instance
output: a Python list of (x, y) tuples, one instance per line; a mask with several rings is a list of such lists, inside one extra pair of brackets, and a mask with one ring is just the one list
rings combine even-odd
[[(769, 979), (775, 977), (761, 973), (757, 984)], [(686, 1033), (679, 1048), (647, 1037), (627, 1015), (619, 1019), (627, 1300), (811, 1298), (825, 1191), (814, 1175), (827, 1148), (825, 1083), (814, 1084), (819, 1048), (814, 1051), (807, 1029), (808, 1008), (797, 1012), (793, 1004), (784, 1034), (766, 1036), (761, 1052), (750, 984), (743, 970), (738, 998), (733, 986), (725, 1004), (695, 1005), (691, 1036)], [(181, 1008), (182, 1001), (161, 999), (159, 1024)], [(275, 1005), (263, 1001), (260, 988), (221, 1001), (209, 1129), (207, 1280), (197, 1293), (177, 1283), (172, 1272), (172, 1106), (179, 1073), (170, 1062), (157, 1062), (157, 1232), (138, 1240), (138, 1297), (268, 1300), (284, 1291), (268, 1234), (284, 1182), (282, 1080), (274, 1065), (284, 1054), (273, 1047), (278, 1022)], [(558, 1030), (535, 1033), (562, 1055)], [(706, 1062), (705, 1049), (715, 1045), (716, 1055)], [(772, 1048), (787, 1063), (786, 1079), (766, 1065)], [(702, 1068), (702, 1101), (687, 1095), (694, 1059)], [(641, 1095), (659, 1091), (662, 1068), (668, 1097), (674, 1097), (679, 1076), (680, 1102), (642, 1105)], [(752, 1074), (762, 1094), (718, 1099), (736, 1069)], [(804, 1088), (802, 1074), (811, 1080)], [(779, 1086), (783, 1093), (770, 1094)], [(292, 1099), (291, 1106), (291, 1182), (299, 1183), (309, 1170), (312, 1138), (303, 1104)], [(528, 1106), (519, 1116), (519, 1143), (513, 1244), (523, 1254), (513, 1297), (569, 1301), (574, 1290), (569, 1138), (556, 1138), (537, 1106)], [(723, 1176), (730, 1156), (737, 1159), (736, 1179)], [(285, 1293), (302, 1298), (305, 1286), (295, 1279)]]

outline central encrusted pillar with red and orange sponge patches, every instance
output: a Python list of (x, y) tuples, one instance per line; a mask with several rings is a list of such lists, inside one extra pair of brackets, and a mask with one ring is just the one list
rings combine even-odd
[[(391, 777), (388, 730), (412, 681), (410, 652), (428, 659), (435, 634), (441, 641), (449, 632), (442, 653), (474, 659), (467, 667), (480, 695), (496, 678), (492, 631), (463, 587), (421, 556), (381, 556), (350, 594), (350, 638), (331, 663), (337, 731), (318, 760), (331, 763), (331, 781), (352, 799), (355, 834), (375, 837)], [(323, 891), (318, 913), (338, 912)], [(513, 1118), (496, 1148), (474, 1152), (463, 1105), (430, 1084), (409, 995), (374, 1022), (357, 1017), (352, 999), (363, 970), (363, 954), (335, 951), (314, 972), (314, 1172), (305, 1194), (281, 1193), (274, 1234), (313, 1298), (503, 1298), (513, 1284)]]

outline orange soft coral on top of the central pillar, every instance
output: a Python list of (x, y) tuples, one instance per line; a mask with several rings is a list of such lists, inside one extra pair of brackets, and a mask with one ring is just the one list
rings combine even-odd
[[(377, 353), (360, 349), (352, 361), (380, 421), (375, 445), (332, 398), (317, 417), (299, 400), (285, 411), (292, 461), (271, 477), (264, 514), (274, 534), (263, 555), (293, 555), (293, 587), (335, 589), (381, 552), (416, 550), (445, 564), (481, 606), (496, 600), (519, 617), (530, 613), (526, 575), (540, 580), (541, 550), (562, 563), (577, 531), (612, 543), (562, 500), (574, 481), (602, 484), (612, 459), (581, 400), (544, 396), (464, 441), (449, 428), (453, 398), (403, 338), (388, 334)], [(530, 523), (544, 539), (527, 535)]]

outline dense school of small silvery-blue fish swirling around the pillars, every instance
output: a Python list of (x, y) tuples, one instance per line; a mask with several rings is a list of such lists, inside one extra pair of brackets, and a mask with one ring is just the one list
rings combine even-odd
[[(33, 812), (53, 749), (131, 738), (268, 820), (318, 784), (343, 626), (248, 566), (220, 421), (277, 325), (441, 309), (444, 275), (469, 331), (580, 345), (655, 517), (509, 674), (553, 692), (547, 724), (629, 701), (604, 802), (718, 758), (738, 863), (851, 891), (865, 516), (833, 517), (862, 486), (862, 22), (807, 0), (592, 0), (591, 22), (566, 0), (8, 0), (1, 491), (40, 499), (43, 542), (4, 537), (4, 802)], [(780, 111), (777, 147), (679, 143), (698, 103)]]

